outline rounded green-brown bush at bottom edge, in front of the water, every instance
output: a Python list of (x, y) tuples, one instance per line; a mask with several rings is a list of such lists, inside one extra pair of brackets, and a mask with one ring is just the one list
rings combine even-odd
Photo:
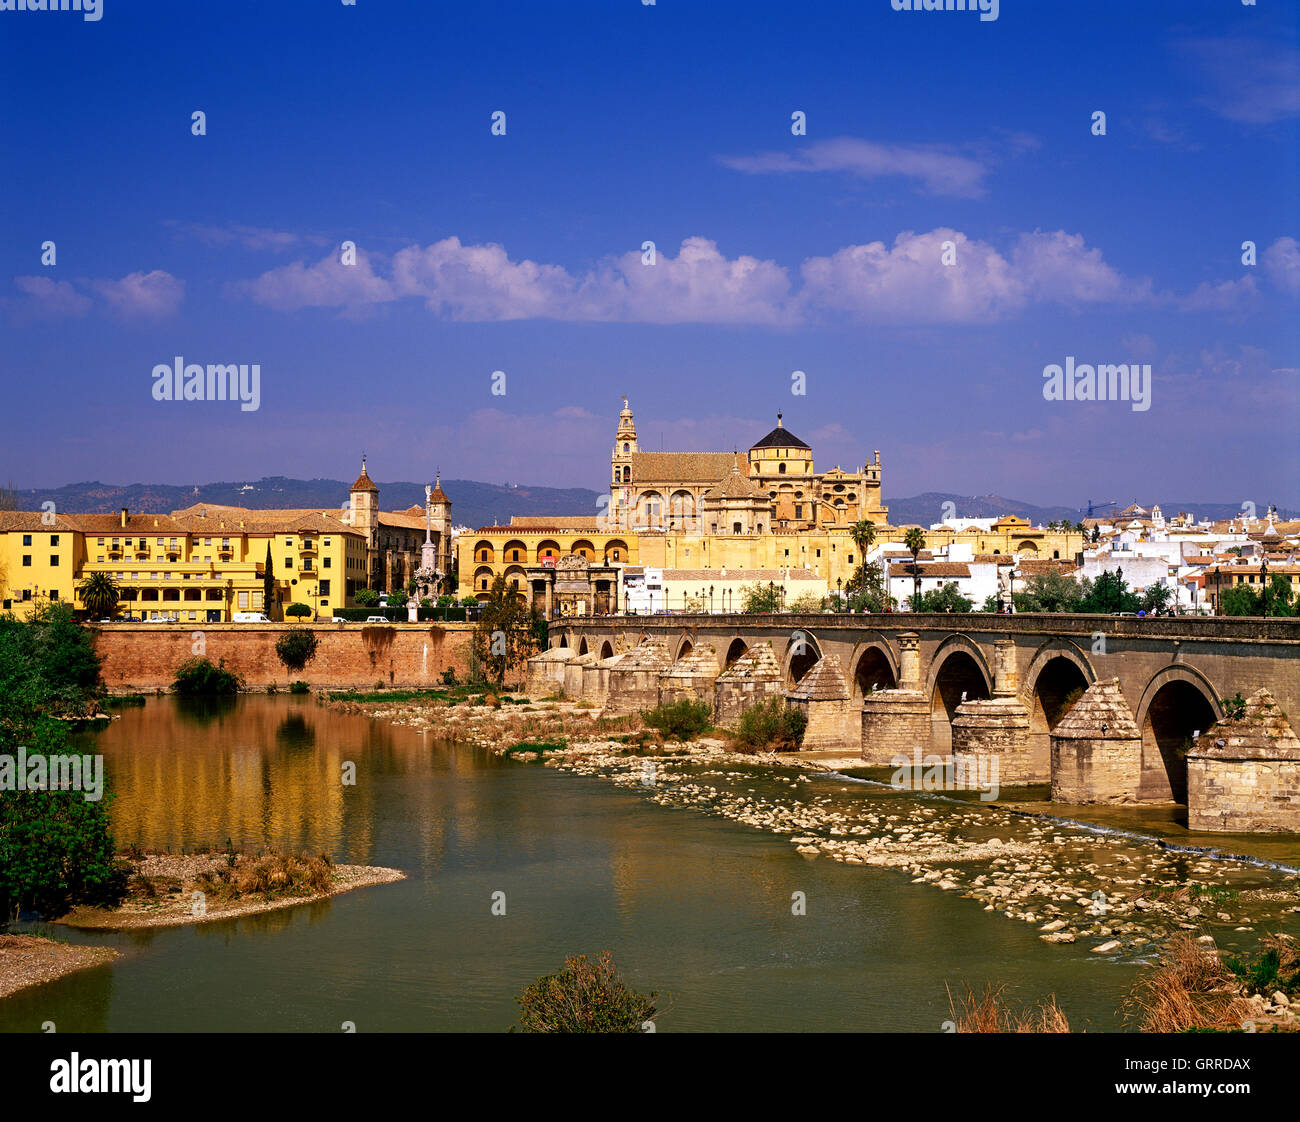
[[(520, 1032), (645, 1032), (658, 1015), (659, 995), (636, 993), (619, 976), (614, 956), (564, 959), (559, 974), (538, 978), (519, 996)], [(514, 1027), (511, 1031), (516, 1031)]]

